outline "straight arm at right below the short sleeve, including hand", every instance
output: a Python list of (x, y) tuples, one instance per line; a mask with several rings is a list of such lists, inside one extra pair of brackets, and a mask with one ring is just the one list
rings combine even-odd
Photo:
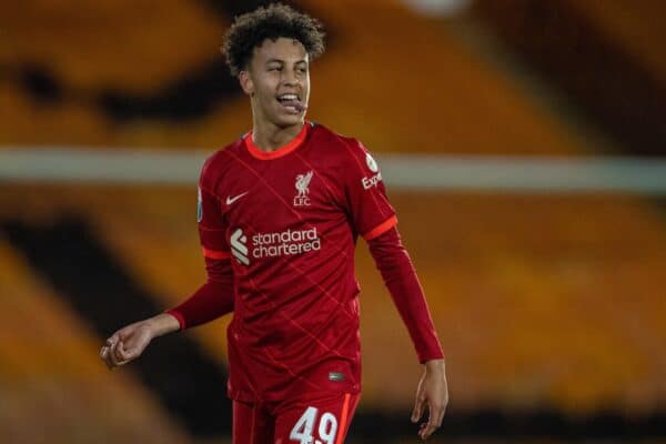
[[(367, 239), (366, 239), (367, 240)], [(412, 422), (425, 410), (428, 420), (418, 435), (430, 437), (441, 425), (448, 403), (444, 353), (425, 301), (423, 289), (395, 226), (367, 240), (370, 252), (382, 274), (397, 311), (407, 326), (424, 373), (418, 382)]]

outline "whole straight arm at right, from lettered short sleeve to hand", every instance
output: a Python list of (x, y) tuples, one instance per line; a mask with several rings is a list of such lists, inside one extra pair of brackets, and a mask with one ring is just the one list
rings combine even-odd
[(389, 202), (382, 172), (363, 144), (347, 139), (340, 174), (344, 183), (344, 209), (352, 225), (370, 246), (386, 287), (402, 316), (425, 371), (416, 390), (412, 420), (418, 422), (425, 408), (427, 423), (418, 435), (426, 438), (440, 427), (448, 402), (444, 353), (437, 340), (423, 289), (396, 229), (395, 210)]

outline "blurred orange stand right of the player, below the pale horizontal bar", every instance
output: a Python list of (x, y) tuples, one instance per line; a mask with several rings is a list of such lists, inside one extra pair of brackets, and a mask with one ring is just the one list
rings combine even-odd
[[(666, 337), (656, 276), (666, 239), (653, 210), (592, 195), (393, 201), (442, 332), (457, 406), (553, 403), (575, 415), (609, 401), (635, 413), (659, 404), (664, 363), (654, 356)], [(372, 307), (363, 333), (373, 344), (365, 397), (390, 402), (395, 375), (410, 374), (395, 351), (410, 343), (376, 275), (362, 278)], [(392, 371), (377, 372), (389, 356)], [(397, 385), (408, 400), (408, 384)]]

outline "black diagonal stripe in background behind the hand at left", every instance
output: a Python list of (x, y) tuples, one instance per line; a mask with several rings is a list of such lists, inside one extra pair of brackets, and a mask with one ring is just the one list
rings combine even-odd
[[(102, 339), (121, 326), (164, 310), (155, 303), (158, 297), (141, 287), (91, 228), (79, 219), (67, 218), (39, 226), (6, 221), (0, 228), (58, 295), (67, 299), (75, 313), (91, 325), (100, 336), (100, 346)], [(103, 365), (101, 361), (100, 365)], [(157, 394), (191, 435), (208, 437), (231, 433), (226, 371), (188, 334), (160, 337), (127, 369)]]

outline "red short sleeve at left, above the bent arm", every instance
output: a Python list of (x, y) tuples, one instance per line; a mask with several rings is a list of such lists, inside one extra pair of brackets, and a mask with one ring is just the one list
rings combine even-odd
[(204, 167), (199, 180), (196, 205), (196, 222), (203, 255), (209, 259), (230, 259), (226, 224), (222, 218), (221, 204), (215, 194), (206, 186), (205, 172), (206, 168)]

